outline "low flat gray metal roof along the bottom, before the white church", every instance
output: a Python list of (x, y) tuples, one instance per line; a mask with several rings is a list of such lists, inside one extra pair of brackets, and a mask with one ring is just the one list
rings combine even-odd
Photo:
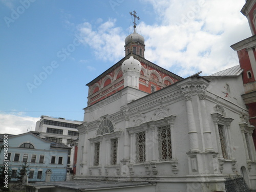
[(136, 182), (136, 181), (105, 181), (105, 180), (72, 180), (63, 182), (37, 182), (29, 183), (31, 187), (37, 188), (47, 188), (59, 187), (59, 188), (69, 188), (76, 190), (88, 190), (88, 189), (106, 189), (106, 188), (119, 188), (119, 187), (135, 187), (135, 186), (145, 186), (154, 185), (153, 182)]

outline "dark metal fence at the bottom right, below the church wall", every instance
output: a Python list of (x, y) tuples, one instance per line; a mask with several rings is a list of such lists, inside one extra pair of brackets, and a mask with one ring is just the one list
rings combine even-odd
[(226, 192), (250, 192), (243, 177), (225, 178)]

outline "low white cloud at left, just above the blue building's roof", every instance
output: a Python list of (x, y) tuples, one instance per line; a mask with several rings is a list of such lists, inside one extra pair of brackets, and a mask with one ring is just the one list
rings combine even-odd
[(35, 131), (35, 124), (40, 117), (20, 116), (20, 114), (0, 114), (0, 133), (18, 135)]

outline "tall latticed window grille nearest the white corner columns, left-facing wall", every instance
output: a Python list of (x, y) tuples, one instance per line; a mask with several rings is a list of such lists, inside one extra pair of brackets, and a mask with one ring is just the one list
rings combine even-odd
[(170, 125), (158, 127), (159, 161), (172, 159), (172, 140), (170, 138)]

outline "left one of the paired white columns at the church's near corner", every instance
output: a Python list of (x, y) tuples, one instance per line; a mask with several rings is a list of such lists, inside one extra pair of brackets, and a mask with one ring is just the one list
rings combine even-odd
[(198, 145), (198, 133), (194, 118), (193, 106), (191, 102), (191, 95), (185, 95), (186, 108), (187, 108), (187, 121), (188, 121), (188, 134), (190, 142), (190, 152), (200, 152)]

